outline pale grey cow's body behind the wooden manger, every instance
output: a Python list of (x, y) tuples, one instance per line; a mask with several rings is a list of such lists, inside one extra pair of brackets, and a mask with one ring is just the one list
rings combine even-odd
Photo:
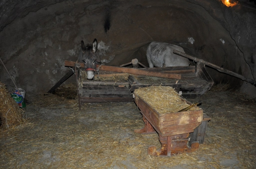
[[(176, 55), (173, 50), (184, 52), (183, 48), (174, 44), (151, 42), (147, 47), (147, 61), (149, 67), (189, 66), (189, 60)], [(185, 53), (185, 52), (184, 52)]]

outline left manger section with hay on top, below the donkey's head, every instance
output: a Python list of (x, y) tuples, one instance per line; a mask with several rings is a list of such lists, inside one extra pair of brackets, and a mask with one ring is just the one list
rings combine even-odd
[(129, 74), (118, 75), (108, 71), (106, 74), (95, 74), (94, 80), (87, 80), (86, 71), (79, 69), (78, 74), (79, 106), (81, 103), (133, 101)]

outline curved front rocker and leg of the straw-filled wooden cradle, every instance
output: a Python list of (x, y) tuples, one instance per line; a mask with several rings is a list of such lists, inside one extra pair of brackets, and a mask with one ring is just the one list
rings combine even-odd
[(157, 150), (155, 146), (149, 146), (147, 152), (152, 156), (167, 157), (170, 157), (172, 154), (194, 152), (199, 148), (199, 143), (193, 142), (191, 147), (188, 147), (188, 136), (189, 133), (170, 135), (167, 137), (161, 137), (159, 135), (159, 141), (161, 142), (162, 148)]

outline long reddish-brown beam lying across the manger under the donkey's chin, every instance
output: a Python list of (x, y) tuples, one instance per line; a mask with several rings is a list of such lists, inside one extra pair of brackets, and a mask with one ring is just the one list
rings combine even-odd
[[(65, 60), (65, 66), (74, 67), (75, 62)], [(84, 63), (80, 62), (81, 68), (84, 68)], [(136, 75), (146, 75), (146, 76), (157, 76), (162, 78), (173, 78), (173, 79), (181, 79), (181, 74), (169, 73), (169, 72), (157, 72), (150, 70), (142, 70), (140, 68), (129, 68), (129, 67), (117, 67), (117, 66), (106, 66), (106, 65), (97, 65), (99, 70), (105, 71), (114, 71), (121, 73), (130, 73)]]

